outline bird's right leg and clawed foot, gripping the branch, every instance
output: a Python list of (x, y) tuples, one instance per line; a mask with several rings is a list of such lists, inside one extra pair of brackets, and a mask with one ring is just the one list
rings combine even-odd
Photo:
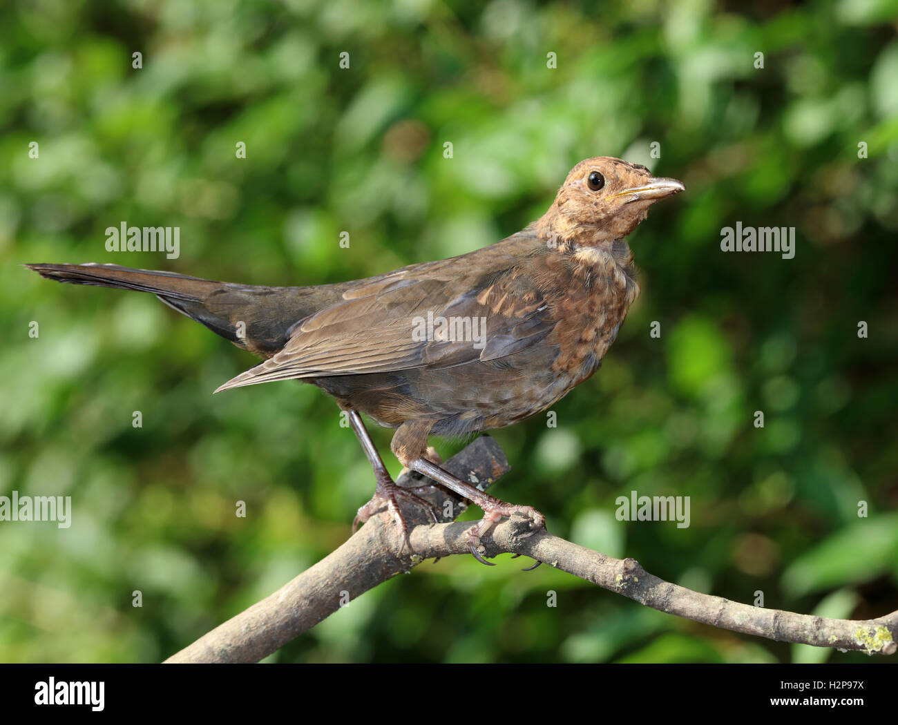
[[(488, 533), (489, 529), (493, 528), (499, 520), (508, 518), (513, 513), (524, 514), (524, 516), (530, 520), (530, 532), (526, 534), (524, 538), (532, 537), (533, 534), (541, 528), (545, 528), (546, 517), (539, 511), (536, 511), (533, 506), (520, 506), (514, 503), (500, 501), (495, 496), (490, 496), (489, 494), (480, 491), (479, 488), (462, 481), (461, 478), (453, 476), (423, 455), (409, 455), (409, 446), (413, 447), (411, 450), (415, 450), (416, 448), (421, 451), (426, 450), (428, 433), (429, 425), (427, 424), (402, 424), (400, 429), (393, 436), (391, 443), (392, 451), (396, 454), (396, 457), (400, 459), (403, 466), (409, 467), (413, 471), (418, 471), (418, 473), (424, 476), (433, 478), (435, 481), (439, 481), (439, 483), (445, 485), (446, 488), (463, 496), (483, 510), (483, 519), (468, 531), (468, 546), (471, 548), (471, 554), (474, 555), (480, 563), (485, 563), (488, 566), (496, 565), (484, 559), (477, 549), (480, 546), (480, 537)], [(422, 435), (423, 444), (421, 441)], [(539, 566), (539, 563), (529, 567), (529, 569), (535, 569), (536, 566)]]

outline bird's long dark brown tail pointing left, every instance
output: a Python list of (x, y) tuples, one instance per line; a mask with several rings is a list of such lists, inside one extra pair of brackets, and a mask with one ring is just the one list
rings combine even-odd
[(174, 310), (262, 357), (280, 349), (290, 325), (312, 314), (327, 296), (326, 287), (231, 284), (119, 265), (26, 266), (57, 282), (153, 293)]

